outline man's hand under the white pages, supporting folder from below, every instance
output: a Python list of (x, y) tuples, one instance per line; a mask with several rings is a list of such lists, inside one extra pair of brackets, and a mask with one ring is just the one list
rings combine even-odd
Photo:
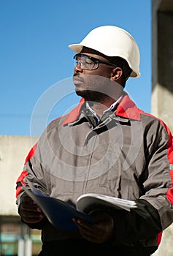
[(84, 222), (82, 219), (73, 218), (73, 221), (79, 227), (82, 237), (96, 244), (102, 244), (112, 238), (114, 230), (114, 221), (112, 217), (105, 212), (95, 212), (91, 214), (94, 224)]

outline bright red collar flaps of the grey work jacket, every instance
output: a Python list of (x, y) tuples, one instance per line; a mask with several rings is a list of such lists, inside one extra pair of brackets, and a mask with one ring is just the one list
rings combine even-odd
[[(85, 99), (80, 99), (79, 105), (66, 116), (63, 125), (72, 123), (77, 119), (84, 102)], [(135, 103), (130, 99), (126, 92), (124, 93), (123, 99), (118, 105), (118, 108), (115, 110), (115, 114), (116, 116), (120, 116), (123, 118), (128, 118), (136, 121), (141, 120), (140, 112), (139, 109), (137, 108), (137, 105), (135, 105)]]

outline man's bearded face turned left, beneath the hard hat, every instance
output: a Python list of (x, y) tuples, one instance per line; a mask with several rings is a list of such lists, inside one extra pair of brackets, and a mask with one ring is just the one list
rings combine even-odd
[[(109, 61), (101, 53), (89, 48), (83, 48), (81, 54), (101, 61)], [(84, 97), (86, 100), (104, 102), (107, 97), (114, 97), (116, 91), (118, 94), (119, 91), (123, 91), (123, 87), (112, 80), (112, 70), (115, 67), (99, 63), (96, 69), (85, 69), (90, 61), (87, 57), (81, 57), (74, 67), (73, 79), (77, 95)]]

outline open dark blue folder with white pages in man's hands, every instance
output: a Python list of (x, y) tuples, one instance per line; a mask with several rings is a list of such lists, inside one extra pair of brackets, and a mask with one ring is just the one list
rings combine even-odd
[(49, 222), (61, 230), (77, 229), (77, 225), (72, 221), (72, 217), (77, 217), (86, 222), (93, 223), (93, 219), (89, 215), (91, 211), (105, 208), (130, 211), (131, 208), (137, 207), (136, 203), (131, 200), (123, 200), (93, 193), (84, 194), (78, 197), (76, 207), (74, 207), (70, 203), (46, 195), (39, 189), (36, 189), (30, 181), (27, 182), (29, 187), (23, 186), (24, 191), (32, 200), (34, 200), (39, 208), (42, 209), (42, 212)]

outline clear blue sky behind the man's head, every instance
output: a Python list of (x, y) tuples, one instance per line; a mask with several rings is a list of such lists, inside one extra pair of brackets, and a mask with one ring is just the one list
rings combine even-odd
[(103, 25), (120, 26), (136, 39), (141, 77), (130, 78), (126, 91), (150, 113), (150, 0), (0, 0), (0, 135), (39, 136), (77, 105), (68, 45)]

